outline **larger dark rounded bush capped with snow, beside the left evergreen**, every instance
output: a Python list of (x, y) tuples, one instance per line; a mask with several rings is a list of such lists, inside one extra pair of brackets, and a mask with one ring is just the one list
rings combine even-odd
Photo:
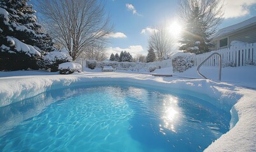
[(72, 61), (72, 57), (65, 52), (60, 51), (52, 51), (43, 58), (43, 64), (42, 68), (50, 68), (51, 72), (57, 72), (58, 71), (58, 65), (65, 62)]

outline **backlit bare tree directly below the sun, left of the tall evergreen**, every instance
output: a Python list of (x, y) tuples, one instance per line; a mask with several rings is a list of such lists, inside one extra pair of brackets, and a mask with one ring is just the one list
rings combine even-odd
[(149, 37), (149, 47), (154, 49), (158, 60), (163, 60), (173, 53), (173, 37), (166, 27), (159, 26), (155, 29)]

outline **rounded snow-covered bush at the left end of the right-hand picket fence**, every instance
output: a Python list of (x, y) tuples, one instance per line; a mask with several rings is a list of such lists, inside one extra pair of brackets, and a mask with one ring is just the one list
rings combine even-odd
[(173, 72), (184, 72), (194, 65), (192, 54), (178, 54), (172, 60)]

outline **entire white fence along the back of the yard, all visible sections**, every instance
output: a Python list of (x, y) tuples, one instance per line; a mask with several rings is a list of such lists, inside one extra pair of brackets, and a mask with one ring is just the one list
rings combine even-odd
[[(222, 66), (245, 66), (246, 64), (256, 64), (256, 42), (247, 44), (246, 46), (241, 47), (230, 47), (227, 49), (219, 49), (217, 51), (210, 51), (208, 53), (197, 54), (194, 57), (195, 64), (194, 66), (198, 66), (202, 63), (210, 54), (219, 53), (222, 56)], [(86, 68), (86, 60), (77, 58), (76, 62), (81, 64), (84, 68)], [(97, 63), (97, 67), (101, 67), (103, 65), (107, 65), (109, 63), (99, 62)], [(157, 66), (161, 68), (166, 68), (172, 66), (172, 59), (163, 60), (163, 61), (155, 61), (152, 63), (113, 63), (118, 64), (117, 67), (122, 68), (123, 66), (128, 66), (130, 68), (150, 68), (151, 66)], [(203, 65), (206, 66), (219, 66), (219, 56), (213, 55), (212, 58), (207, 60)]]

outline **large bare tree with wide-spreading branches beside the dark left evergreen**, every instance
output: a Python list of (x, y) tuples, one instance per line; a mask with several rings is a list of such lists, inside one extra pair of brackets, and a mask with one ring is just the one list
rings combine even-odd
[(112, 31), (101, 1), (40, 0), (38, 3), (51, 36), (69, 51), (73, 60), (88, 47), (106, 42), (106, 35)]

